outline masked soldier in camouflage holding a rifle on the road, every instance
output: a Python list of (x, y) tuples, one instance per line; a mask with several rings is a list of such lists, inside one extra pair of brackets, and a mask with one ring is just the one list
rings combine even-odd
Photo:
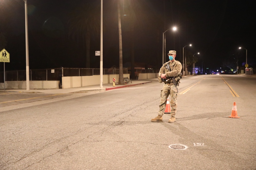
[(165, 106), (167, 102), (167, 98), (170, 95), (170, 107), (172, 108), (170, 111), (171, 118), (168, 120), (169, 123), (175, 122), (175, 116), (177, 112), (177, 94), (179, 80), (180, 80), (180, 72), (182, 70), (182, 65), (179, 61), (175, 60), (176, 51), (170, 50), (168, 53), (169, 60), (164, 63), (158, 73), (159, 83), (164, 82), (164, 87), (161, 90), (161, 99), (159, 105), (158, 116), (154, 119), (151, 119), (152, 122), (163, 121), (162, 116), (164, 115)]

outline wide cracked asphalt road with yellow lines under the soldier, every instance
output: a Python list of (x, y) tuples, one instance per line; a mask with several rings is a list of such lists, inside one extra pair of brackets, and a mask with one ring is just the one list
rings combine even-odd
[[(183, 77), (174, 123), (170, 114), (150, 121), (158, 82), (55, 96), (2, 93), (0, 169), (256, 169), (255, 84), (238, 75)], [(233, 102), (239, 119), (228, 117)]]

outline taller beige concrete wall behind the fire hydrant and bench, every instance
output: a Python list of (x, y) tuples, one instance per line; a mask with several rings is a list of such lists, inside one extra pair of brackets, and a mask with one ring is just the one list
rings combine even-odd
[[(123, 76), (130, 78), (130, 74), (124, 74)], [(119, 74), (103, 75), (103, 84), (112, 83), (113, 78), (115, 78), (115, 83), (119, 82)], [(63, 89), (98, 84), (100, 84), (100, 75), (62, 77)]]

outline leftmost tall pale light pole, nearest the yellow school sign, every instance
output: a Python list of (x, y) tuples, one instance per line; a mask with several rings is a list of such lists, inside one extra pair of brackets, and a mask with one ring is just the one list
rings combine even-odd
[(29, 90), (29, 60), (28, 60), (28, 8), (27, 0), (25, 2), (25, 29), (26, 29), (26, 87)]

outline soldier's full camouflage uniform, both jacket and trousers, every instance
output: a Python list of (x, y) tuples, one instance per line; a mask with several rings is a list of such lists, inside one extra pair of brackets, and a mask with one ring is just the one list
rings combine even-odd
[[(166, 64), (169, 64), (170, 70), (167, 69)], [(170, 111), (170, 114), (172, 117), (176, 116), (177, 112), (177, 94), (178, 91), (172, 81), (172, 77), (174, 77), (175, 81), (177, 84), (179, 84), (179, 79), (180, 79), (180, 72), (182, 70), (182, 65), (179, 61), (175, 60), (174, 62), (166, 62), (160, 69), (158, 73), (158, 80), (160, 83), (162, 83), (161, 79), (161, 74), (166, 73), (166, 80), (164, 81), (164, 87), (161, 90), (161, 99), (160, 99), (160, 105), (159, 105), (159, 111), (158, 115), (163, 116), (164, 111), (165, 111), (165, 106), (167, 102), (167, 98), (170, 95), (169, 102), (170, 102), (170, 107), (172, 108)]]

